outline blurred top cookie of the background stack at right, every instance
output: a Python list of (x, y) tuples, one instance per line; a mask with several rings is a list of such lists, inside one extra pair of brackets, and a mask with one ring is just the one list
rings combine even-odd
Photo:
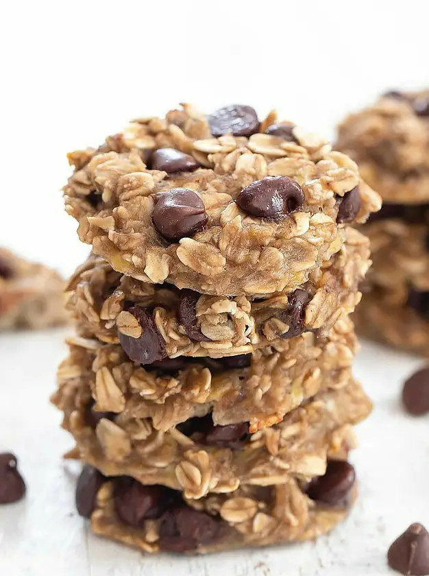
[(338, 149), (387, 202), (429, 199), (429, 91), (389, 92), (339, 125)]

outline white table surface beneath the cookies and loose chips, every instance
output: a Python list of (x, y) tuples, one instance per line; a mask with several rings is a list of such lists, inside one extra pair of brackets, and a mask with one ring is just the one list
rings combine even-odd
[(145, 557), (93, 536), (73, 498), (78, 466), (62, 461), (71, 437), (49, 405), (64, 330), (0, 336), (0, 451), (13, 451), (27, 481), (20, 503), (0, 507), (3, 576), (371, 576), (389, 574), (386, 551), (410, 523), (429, 527), (429, 420), (398, 403), (418, 359), (365, 343), (356, 376), (374, 400), (357, 428), (352, 461), (360, 499), (329, 536), (293, 547), (208, 557)]

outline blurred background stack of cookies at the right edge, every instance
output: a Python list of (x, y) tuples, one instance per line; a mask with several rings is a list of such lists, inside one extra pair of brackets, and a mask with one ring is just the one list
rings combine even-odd
[(339, 128), (339, 149), (380, 191), (365, 224), (373, 267), (358, 330), (398, 348), (429, 350), (429, 92), (388, 93)]

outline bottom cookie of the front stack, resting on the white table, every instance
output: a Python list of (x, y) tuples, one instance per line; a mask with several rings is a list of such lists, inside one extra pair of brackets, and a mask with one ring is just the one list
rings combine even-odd
[(326, 474), (310, 482), (245, 486), (197, 501), (130, 477), (106, 479), (85, 466), (77, 508), (97, 535), (144, 552), (210, 553), (313, 540), (347, 516), (356, 493), (347, 461), (330, 461)]

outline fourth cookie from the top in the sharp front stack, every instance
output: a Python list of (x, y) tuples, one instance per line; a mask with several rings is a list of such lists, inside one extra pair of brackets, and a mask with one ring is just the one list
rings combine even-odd
[(107, 406), (94, 405), (90, 383), (78, 377), (60, 387), (53, 401), (64, 411), (63, 427), (75, 438), (76, 457), (105, 475), (166, 485), (190, 499), (242, 484), (323, 475), (328, 457), (347, 457), (355, 446), (352, 425), (371, 409), (352, 379), (253, 432), (248, 422), (215, 425), (208, 405), (168, 431), (156, 430), (151, 418), (139, 413), (136, 398), (123, 398), (120, 412), (99, 412)]

